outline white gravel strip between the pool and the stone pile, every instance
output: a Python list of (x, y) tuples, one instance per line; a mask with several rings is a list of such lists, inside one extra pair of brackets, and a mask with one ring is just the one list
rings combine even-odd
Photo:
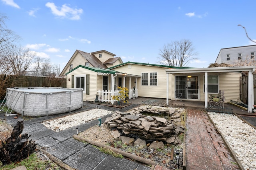
[(99, 117), (108, 115), (110, 113), (112, 113), (112, 111), (104, 109), (91, 109), (88, 111), (46, 121), (42, 124), (45, 125), (48, 129), (58, 132), (70, 127), (81, 125), (87, 121), (98, 119)]

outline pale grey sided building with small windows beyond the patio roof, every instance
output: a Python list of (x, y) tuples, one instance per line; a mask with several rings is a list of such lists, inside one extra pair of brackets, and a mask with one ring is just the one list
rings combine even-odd
[[(220, 49), (215, 63), (235, 64), (244, 61), (255, 65), (256, 45)], [(246, 65), (244, 65), (246, 66)]]

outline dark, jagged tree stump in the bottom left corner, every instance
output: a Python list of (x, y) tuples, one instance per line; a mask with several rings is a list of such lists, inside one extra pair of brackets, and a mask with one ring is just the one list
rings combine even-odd
[(27, 133), (21, 135), (24, 127), (23, 121), (23, 119), (18, 120), (11, 137), (0, 144), (0, 161), (3, 165), (21, 161), (36, 149), (37, 144), (35, 141), (29, 140), (30, 135)]

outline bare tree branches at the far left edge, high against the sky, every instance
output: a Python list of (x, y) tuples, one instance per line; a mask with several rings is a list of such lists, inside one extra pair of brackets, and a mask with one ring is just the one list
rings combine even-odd
[(6, 27), (5, 20), (7, 19), (4, 14), (0, 13), (0, 51), (8, 48), (14, 41), (20, 39), (14, 31)]

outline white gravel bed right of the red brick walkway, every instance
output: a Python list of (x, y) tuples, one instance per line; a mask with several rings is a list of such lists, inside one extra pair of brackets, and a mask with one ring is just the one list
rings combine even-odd
[(256, 170), (256, 129), (232, 114), (208, 113), (246, 170)]

